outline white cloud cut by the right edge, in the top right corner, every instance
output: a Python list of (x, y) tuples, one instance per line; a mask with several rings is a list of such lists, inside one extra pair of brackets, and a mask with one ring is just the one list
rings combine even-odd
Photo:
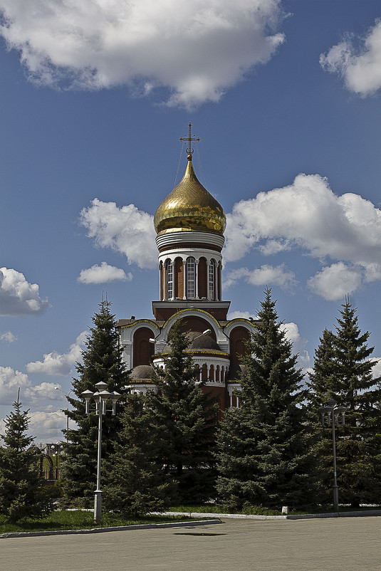
[(372, 95), (381, 88), (381, 20), (370, 28), (362, 46), (355, 47), (357, 38), (344, 41), (320, 55), (320, 66), (330, 73), (338, 73), (350, 91), (362, 96)]

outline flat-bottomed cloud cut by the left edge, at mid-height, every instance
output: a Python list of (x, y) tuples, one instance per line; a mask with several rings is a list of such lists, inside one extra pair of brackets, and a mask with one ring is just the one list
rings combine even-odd
[(38, 294), (38, 285), (28, 283), (23, 273), (0, 268), (0, 315), (41, 315), (50, 307)]

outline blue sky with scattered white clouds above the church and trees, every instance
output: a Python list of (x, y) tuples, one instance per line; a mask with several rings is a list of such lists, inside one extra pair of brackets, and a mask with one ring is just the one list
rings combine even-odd
[(152, 318), (152, 217), (189, 122), (227, 216), (229, 317), (255, 317), (271, 287), (308, 370), (349, 294), (381, 357), (379, 0), (0, 0), (0, 14), (0, 432), (20, 387), (36, 444), (62, 439), (103, 292), (116, 318)]

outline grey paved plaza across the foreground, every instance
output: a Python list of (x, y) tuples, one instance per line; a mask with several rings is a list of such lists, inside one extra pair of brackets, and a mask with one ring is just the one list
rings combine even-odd
[(9, 538), (0, 553), (6, 571), (381, 571), (381, 518)]

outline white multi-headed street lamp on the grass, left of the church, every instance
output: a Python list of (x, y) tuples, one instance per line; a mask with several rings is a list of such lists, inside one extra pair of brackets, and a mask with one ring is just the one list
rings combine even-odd
[(120, 394), (116, 391), (106, 391), (107, 384), (103, 381), (95, 384), (97, 392), (83, 391), (83, 398), (86, 402), (85, 413), (90, 414), (90, 399), (95, 401), (95, 414), (98, 415), (98, 461), (97, 461), (97, 489), (94, 491), (94, 521), (99, 521), (102, 515), (102, 490), (100, 489), (100, 458), (102, 455), (102, 417), (106, 412), (106, 403), (108, 399), (113, 403), (112, 414), (115, 416), (116, 404), (120, 398)]

